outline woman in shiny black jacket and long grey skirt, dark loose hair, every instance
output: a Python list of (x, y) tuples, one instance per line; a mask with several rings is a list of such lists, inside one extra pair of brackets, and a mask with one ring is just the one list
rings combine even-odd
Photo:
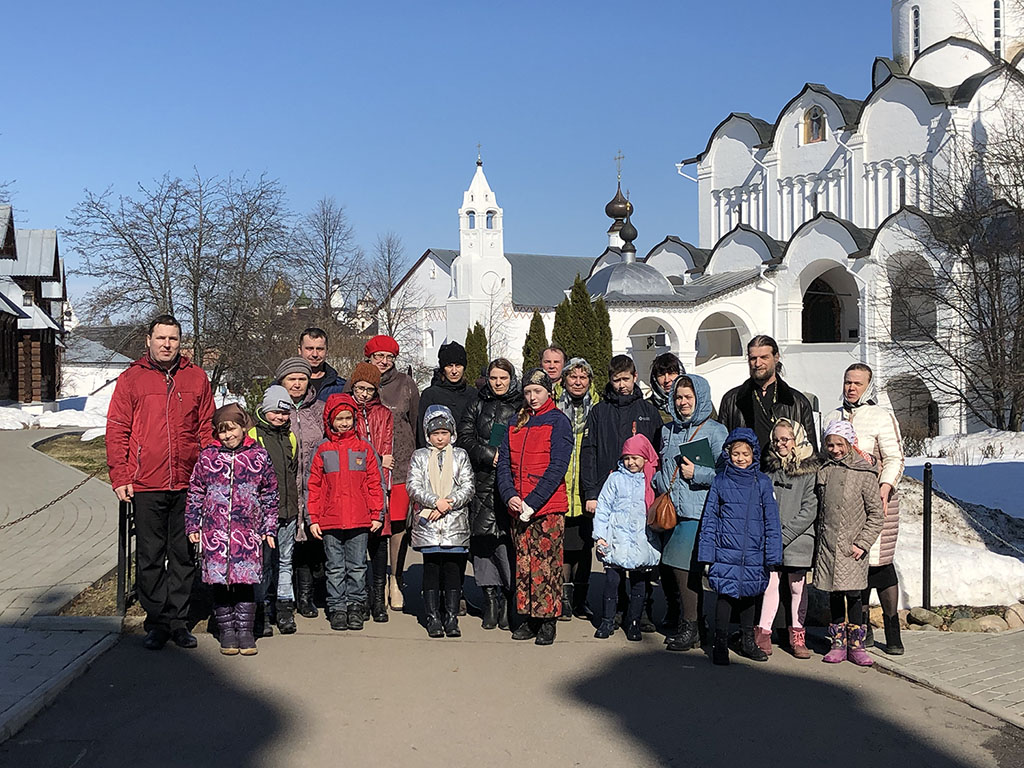
[(463, 413), (457, 444), (469, 454), (476, 493), (469, 505), (469, 550), (473, 578), (483, 590), (483, 629), (509, 629), (508, 601), (515, 582), (511, 522), (495, 482), (498, 449), (508, 424), (522, 408), (515, 367), (504, 357), (487, 366), (479, 396)]

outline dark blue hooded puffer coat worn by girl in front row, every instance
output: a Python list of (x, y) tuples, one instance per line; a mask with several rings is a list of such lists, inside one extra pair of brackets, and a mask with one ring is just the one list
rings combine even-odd
[[(749, 442), (754, 456), (761, 455), (754, 430), (732, 430), (725, 447), (737, 440)], [(757, 462), (739, 469), (726, 458), (708, 494), (697, 560), (711, 564), (711, 588), (720, 595), (753, 597), (768, 588), (768, 569), (782, 563), (782, 526), (771, 478), (758, 470)]]

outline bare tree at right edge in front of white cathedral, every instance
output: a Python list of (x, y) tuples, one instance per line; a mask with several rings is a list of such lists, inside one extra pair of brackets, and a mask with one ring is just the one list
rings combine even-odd
[(1024, 420), (1024, 115), (1000, 105), (933, 169), (913, 248), (889, 255), (896, 369), (981, 423)]

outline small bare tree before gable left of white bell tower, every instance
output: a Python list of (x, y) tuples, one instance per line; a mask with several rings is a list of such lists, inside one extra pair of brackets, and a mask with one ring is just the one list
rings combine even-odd
[(408, 270), (401, 239), (394, 232), (378, 236), (365, 272), (367, 289), (380, 302), (380, 332), (394, 337), (401, 346), (419, 346), (424, 297), (419, 286), (402, 282)]

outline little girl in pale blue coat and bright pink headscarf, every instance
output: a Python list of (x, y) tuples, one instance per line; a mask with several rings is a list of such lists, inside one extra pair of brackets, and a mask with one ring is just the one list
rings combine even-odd
[(614, 632), (618, 585), (628, 580), (630, 606), (626, 613), (626, 639), (641, 640), (640, 614), (647, 584), (662, 559), (660, 540), (647, 527), (647, 508), (654, 501), (651, 478), (657, 468), (654, 446), (642, 434), (623, 444), (618, 468), (601, 487), (594, 512), (597, 556), (604, 563), (604, 612), (594, 637)]

